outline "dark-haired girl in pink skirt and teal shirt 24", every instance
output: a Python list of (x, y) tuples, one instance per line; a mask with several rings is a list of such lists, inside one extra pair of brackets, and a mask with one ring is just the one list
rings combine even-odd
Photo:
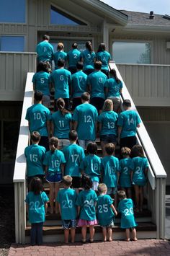
[(97, 194), (94, 190), (91, 190), (92, 182), (89, 177), (84, 176), (84, 190), (82, 190), (76, 200), (78, 206), (78, 215), (80, 213), (80, 219), (78, 226), (81, 226), (82, 242), (86, 242), (86, 228), (89, 226), (90, 242), (94, 241), (94, 225), (97, 224), (96, 217), (96, 203)]

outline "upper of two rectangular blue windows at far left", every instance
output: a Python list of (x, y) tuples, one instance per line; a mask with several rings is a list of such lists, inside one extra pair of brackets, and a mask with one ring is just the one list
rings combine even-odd
[(25, 23), (25, 0), (2, 0), (0, 22)]

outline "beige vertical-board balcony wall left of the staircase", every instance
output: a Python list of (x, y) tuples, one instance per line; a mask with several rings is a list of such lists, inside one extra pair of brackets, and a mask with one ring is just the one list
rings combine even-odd
[(36, 69), (36, 53), (0, 52), (0, 63), (0, 101), (22, 101), (27, 72)]

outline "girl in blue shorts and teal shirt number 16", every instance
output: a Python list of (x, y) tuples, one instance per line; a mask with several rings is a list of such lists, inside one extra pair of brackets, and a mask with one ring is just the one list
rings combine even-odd
[[(45, 165), (46, 180), (50, 186), (50, 213), (54, 213), (54, 200), (60, 188), (66, 163), (63, 152), (58, 150), (58, 138), (50, 138), (50, 151), (46, 152), (43, 164)], [(58, 213), (58, 203), (55, 203), (55, 213)]]

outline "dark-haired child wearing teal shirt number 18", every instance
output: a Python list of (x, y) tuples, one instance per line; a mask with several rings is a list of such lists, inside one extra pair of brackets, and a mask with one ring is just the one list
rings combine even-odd
[(97, 156), (97, 144), (95, 142), (89, 142), (86, 150), (89, 155), (81, 162), (81, 173), (83, 175), (88, 175), (91, 178), (91, 181), (93, 182), (92, 190), (97, 191), (101, 175), (101, 159)]

